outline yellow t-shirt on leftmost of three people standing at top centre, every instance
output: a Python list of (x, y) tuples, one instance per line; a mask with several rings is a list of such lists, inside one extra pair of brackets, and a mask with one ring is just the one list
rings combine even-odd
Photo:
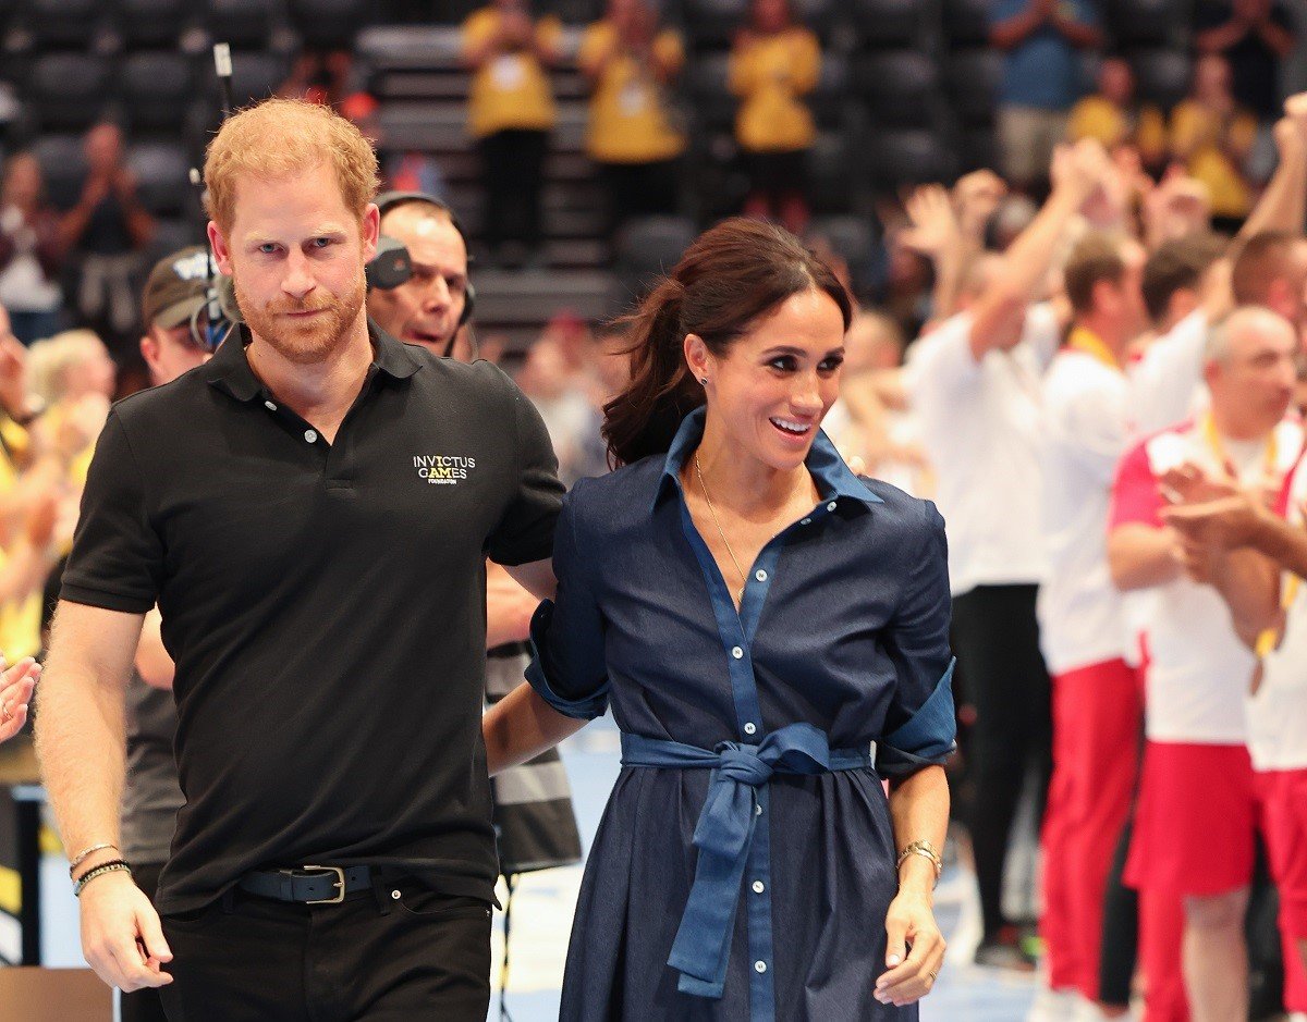
[[(494, 8), (474, 10), (463, 22), (463, 52), (485, 43), (499, 31), (501, 14)], [(555, 17), (536, 22), (541, 46), (557, 46), (562, 25)], [(554, 127), (554, 94), (549, 74), (535, 54), (499, 54), (472, 76), (468, 95), (468, 127), (477, 139), (497, 131), (549, 131)]]

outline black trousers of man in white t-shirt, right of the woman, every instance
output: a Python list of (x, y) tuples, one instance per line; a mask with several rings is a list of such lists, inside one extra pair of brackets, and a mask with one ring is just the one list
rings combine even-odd
[(976, 710), (971, 733), (971, 844), (984, 936), (1008, 921), (1002, 873), (1031, 766), (1043, 816), (1052, 770), (1051, 685), (1039, 652), (1035, 585), (978, 585), (953, 601), (954, 653)]

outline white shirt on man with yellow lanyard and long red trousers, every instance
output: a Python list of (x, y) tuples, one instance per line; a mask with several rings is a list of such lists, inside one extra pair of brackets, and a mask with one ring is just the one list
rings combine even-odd
[(1043, 396), (1048, 578), (1036, 610), (1048, 670), (1063, 674), (1127, 652), (1121, 599), (1107, 567), (1107, 512), (1125, 450), (1129, 387), (1115, 365), (1067, 348), (1044, 376)]

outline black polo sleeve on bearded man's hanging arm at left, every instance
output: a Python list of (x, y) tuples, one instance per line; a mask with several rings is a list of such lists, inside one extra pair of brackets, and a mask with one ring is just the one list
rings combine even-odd
[(144, 614), (162, 578), (163, 544), (150, 523), (144, 473), (114, 410), (95, 443), (60, 596)]

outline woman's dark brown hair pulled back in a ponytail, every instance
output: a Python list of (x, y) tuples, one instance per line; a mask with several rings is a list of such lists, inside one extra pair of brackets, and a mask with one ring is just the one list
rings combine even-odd
[(731, 344), (793, 294), (829, 294), (853, 320), (848, 291), (789, 231), (736, 217), (704, 231), (672, 272), (620, 320), (630, 341), (626, 388), (604, 405), (604, 439), (614, 467), (665, 453), (681, 420), (703, 404), (684, 344), (689, 333), (724, 357)]

